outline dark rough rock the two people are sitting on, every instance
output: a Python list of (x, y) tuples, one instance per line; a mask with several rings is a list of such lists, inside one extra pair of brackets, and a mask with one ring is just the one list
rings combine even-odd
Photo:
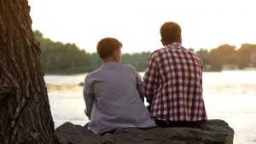
[(67, 122), (55, 131), (61, 144), (232, 144), (234, 138), (234, 130), (219, 119), (208, 120), (201, 124), (201, 129), (127, 128), (115, 130), (113, 134), (95, 135), (81, 125)]

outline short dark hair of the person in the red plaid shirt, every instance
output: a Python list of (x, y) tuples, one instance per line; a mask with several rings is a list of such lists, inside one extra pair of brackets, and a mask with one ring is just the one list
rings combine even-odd
[(166, 22), (160, 28), (160, 35), (166, 43), (177, 42), (181, 37), (181, 27), (175, 22)]

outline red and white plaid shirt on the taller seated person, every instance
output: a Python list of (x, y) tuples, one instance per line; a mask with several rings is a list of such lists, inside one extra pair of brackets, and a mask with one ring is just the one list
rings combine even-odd
[(202, 66), (200, 56), (180, 43), (171, 43), (149, 56), (143, 83), (152, 118), (207, 119), (202, 97)]

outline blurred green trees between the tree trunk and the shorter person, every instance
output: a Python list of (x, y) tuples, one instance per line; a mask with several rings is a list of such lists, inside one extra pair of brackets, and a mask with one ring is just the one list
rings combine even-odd
[(85, 72), (89, 66), (89, 54), (80, 50), (74, 43), (53, 42), (35, 31), (34, 37), (40, 43), (41, 61), (46, 73)]

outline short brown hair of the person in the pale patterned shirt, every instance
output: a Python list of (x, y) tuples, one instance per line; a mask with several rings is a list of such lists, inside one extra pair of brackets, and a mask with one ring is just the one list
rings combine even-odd
[(106, 37), (102, 38), (97, 43), (97, 53), (100, 55), (102, 59), (105, 59), (113, 54), (113, 51), (116, 49), (121, 49), (123, 46), (122, 43), (119, 42), (119, 40), (112, 38), (112, 37)]

